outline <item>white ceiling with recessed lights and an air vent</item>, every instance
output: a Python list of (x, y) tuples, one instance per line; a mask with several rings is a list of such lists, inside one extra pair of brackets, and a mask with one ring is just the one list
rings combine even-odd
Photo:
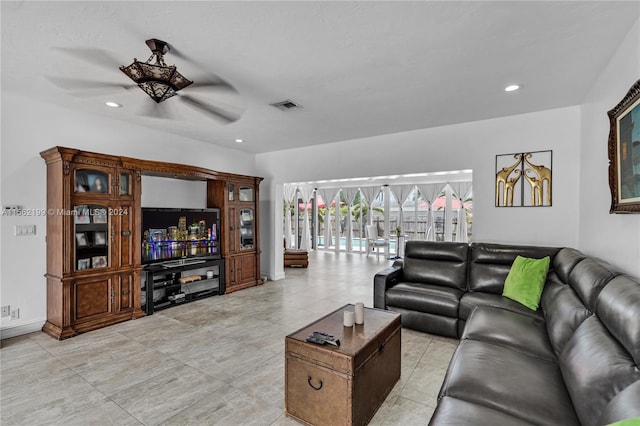
[[(579, 104), (640, 16), (637, 0), (1, 7), (2, 91), (253, 153)], [(242, 117), (222, 124), (169, 99), (159, 107), (171, 118), (150, 118), (140, 113), (153, 101), (137, 88), (74, 93), (45, 78), (127, 84), (117, 67), (82, 60), (79, 52), (102, 49), (105, 62), (128, 65), (149, 57), (148, 38), (191, 59), (165, 56), (187, 78), (215, 73), (236, 87)], [(505, 93), (510, 83), (522, 89)], [(211, 89), (184, 93), (236, 102)], [(286, 99), (303, 108), (269, 106)], [(107, 108), (107, 100), (124, 107)]]

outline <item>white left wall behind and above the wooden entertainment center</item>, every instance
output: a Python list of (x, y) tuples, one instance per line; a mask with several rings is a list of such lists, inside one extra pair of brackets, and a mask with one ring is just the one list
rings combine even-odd
[[(55, 145), (255, 174), (255, 157), (252, 154), (78, 114), (24, 99), (7, 91), (2, 94), (1, 132), (0, 201), (3, 206), (46, 208), (46, 168), (39, 152)], [(188, 184), (178, 182), (169, 185), (170, 190), (164, 196), (170, 196), (171, 191), (180, 190)], [(153, 190), (160, 196), (156, 191), (160, 190)], [(206, 197), (204, 191), (202, 197)], [(157, 204), (154, 201), (160, 199), (152, 195), (149, 202)], [(197, 200), (194, 202), (199, 203)], [(13, 235), (14, 226), (27, 224), (36, 225), (35, 236)], [(1, 219), (0, 304), (20, 309), (20, 319), (0, 319), (2, 337), (37, 330), (46, 320), (45, 229), (45, 217), (42, 216), (5, 216)]]

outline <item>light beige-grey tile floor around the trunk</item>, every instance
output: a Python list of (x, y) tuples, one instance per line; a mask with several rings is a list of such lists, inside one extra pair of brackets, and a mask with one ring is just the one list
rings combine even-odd
[[(297, 425), (284, 337), (346, 303), (373, 306), (390, 261), (311, 252), (286, 279), (57, 341), (3, 340), (3, 425)], [(372, 425), (426, 425), (456, 340), (402, 331), (402, 376)]]

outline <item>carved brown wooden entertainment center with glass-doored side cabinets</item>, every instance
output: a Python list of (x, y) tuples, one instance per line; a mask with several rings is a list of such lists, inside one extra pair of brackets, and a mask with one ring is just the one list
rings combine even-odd
[(221, 210), (224, 292), (260, 285), (262, 178), (73, 148), (40, 153), (47, 165), (47, 321), (65, 339), (145, 313), (141, 306), (141, 176), (207, 182)]

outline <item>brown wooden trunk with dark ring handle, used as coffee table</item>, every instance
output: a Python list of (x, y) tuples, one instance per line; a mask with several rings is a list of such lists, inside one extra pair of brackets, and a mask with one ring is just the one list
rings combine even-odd
[[(362, 325), (343, 327), (347, 305), (285, 340), (285, 410), (311, 425), (366, 425), (400, 379), (400, 315), (365, 309)], [(305, 339), (332, 334), (341, 346)]]

